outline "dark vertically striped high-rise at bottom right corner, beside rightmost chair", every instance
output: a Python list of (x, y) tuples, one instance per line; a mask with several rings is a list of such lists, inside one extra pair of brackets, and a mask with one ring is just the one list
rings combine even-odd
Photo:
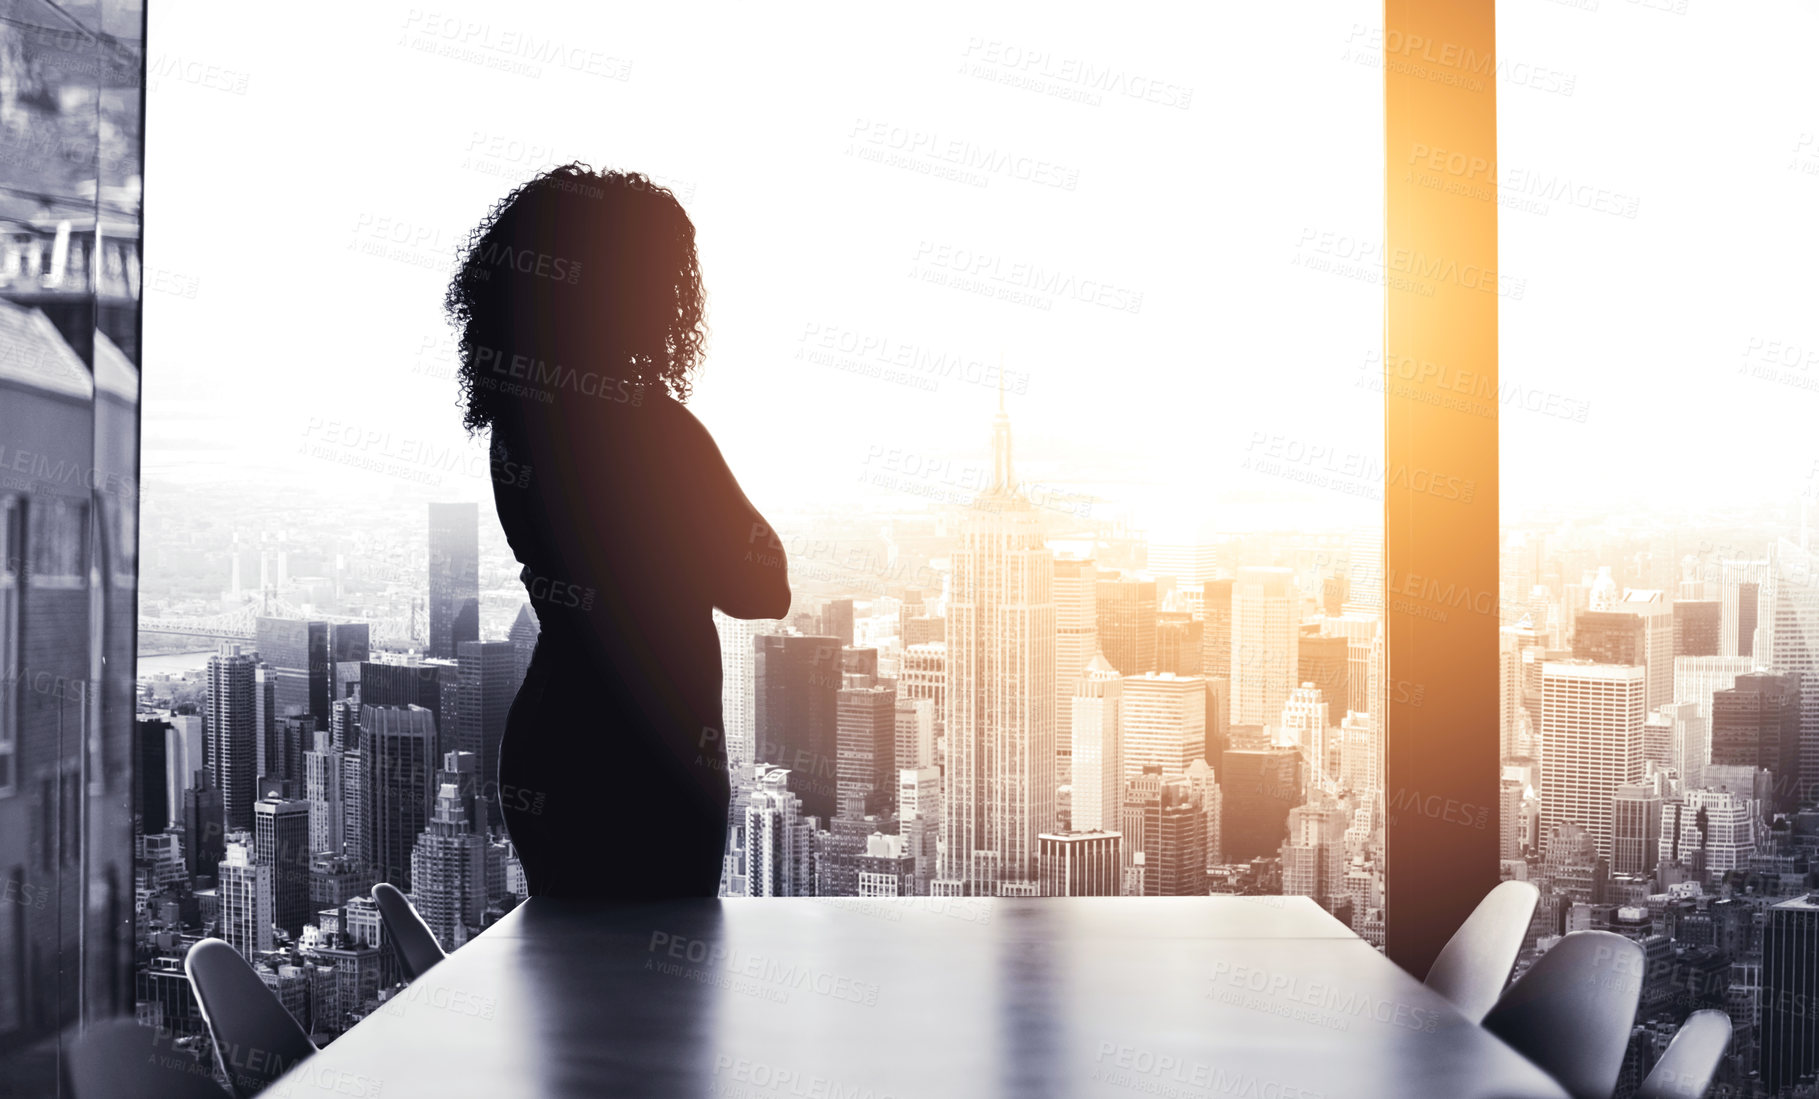
[(1819, 893), (1774, 904), (1763, 921), (1763, 1083), (1779, 1094), (1819, 1072)]

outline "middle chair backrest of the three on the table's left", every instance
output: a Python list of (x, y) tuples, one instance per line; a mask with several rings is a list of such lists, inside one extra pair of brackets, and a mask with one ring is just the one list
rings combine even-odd
[(317, 1052), (296, 1019), (227, 943), (196, 943), (184, 955), (184, 972), (196, 990), (202, 1021), (215, 1035), (215, 1059), (240, 1099), (256, 1095)]

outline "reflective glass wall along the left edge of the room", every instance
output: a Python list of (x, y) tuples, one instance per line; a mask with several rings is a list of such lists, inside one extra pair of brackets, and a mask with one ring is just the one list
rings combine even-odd
[(0, 5), (0, 1075), (131, 1012), (140, 4)]

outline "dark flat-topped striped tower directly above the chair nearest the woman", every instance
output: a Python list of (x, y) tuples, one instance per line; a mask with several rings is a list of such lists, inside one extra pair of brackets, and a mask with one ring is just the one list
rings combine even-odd
[(435, 719), (422, 706), (362, 706), (367, 862), (378, 881), (411, 892), (411, 850), (429, 824), (437, 764)]

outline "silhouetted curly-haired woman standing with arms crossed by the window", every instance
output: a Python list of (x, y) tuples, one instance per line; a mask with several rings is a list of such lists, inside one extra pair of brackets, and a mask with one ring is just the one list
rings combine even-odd
[(447, 291), (469, 431), (542, 624), (498, 757), (531, 895), (711, 897), (728, 773), (713, 608), (789, 610), (782, 548), (682, 400), (695, 226), (646, 176), (508, 195)]

